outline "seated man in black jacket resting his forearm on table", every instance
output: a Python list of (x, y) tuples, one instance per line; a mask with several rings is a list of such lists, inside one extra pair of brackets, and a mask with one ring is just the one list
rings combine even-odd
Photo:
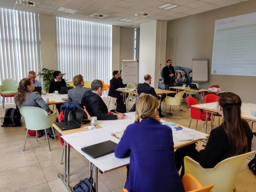
[(82, 98), (82, 105), (86, 106), (91, 117), (97, 117), (98, 120), (115, 120), (123, 119), (124, 114), (108, 114), (107, 105), (101, 99), (103, 84), (100, 80), (93, 80), (91, 90), (85, 92)]

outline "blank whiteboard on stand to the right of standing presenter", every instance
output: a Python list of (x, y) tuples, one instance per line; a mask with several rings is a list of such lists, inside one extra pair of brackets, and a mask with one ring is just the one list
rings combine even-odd
[(192, 59), (193, 81), (208, 81), (208, 59)]

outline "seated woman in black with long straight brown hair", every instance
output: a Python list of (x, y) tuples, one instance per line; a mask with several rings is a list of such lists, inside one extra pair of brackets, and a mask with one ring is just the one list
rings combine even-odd
[(185, 156), (196, 160), (203, 168), (214, 168), (221, 160), (251, 151), (252, 131), (248, 123), (241, 118), (242, 101), (235, 93), (225, 93), (218, 99), (218, 111), (223, 123), (214, 128), (204, 147), (201, 142), (177, 149), (176, 168), (182, 167), (180, 177), (184, 175)]

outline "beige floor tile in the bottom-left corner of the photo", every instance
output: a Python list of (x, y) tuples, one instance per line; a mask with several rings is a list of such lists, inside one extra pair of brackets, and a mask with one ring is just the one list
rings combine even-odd
[(0, 191), (19, 191), (45, 182), (39, 163), (0, 172)]

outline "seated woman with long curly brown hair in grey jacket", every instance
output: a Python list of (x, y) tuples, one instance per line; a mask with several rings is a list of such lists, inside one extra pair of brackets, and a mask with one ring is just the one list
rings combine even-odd
[[(51, 115), (51, 109), (45, 103), (43, 98), (38, 92), (33, 92), (35, 90), (35, 85), (30, 78), (23, 78), (18, 84), (18, 92), (14, 97), (14, 102), (18, 108), (23, 108), (24, 106), (35, 106), (44, 109), (48, 115)], [(51, 131), (51, 137), (54, 139), (54, 135)]]

